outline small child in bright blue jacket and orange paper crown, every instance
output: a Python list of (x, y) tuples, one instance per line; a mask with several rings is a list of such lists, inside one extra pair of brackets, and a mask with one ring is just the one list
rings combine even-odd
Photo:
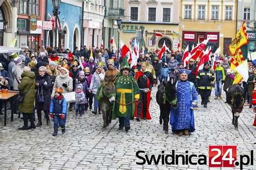
[(62, 95), (62, 91), (62, 88), (56, 88), (55, 96), (51, 100), (50, 116), (54, 122), (52, 136), (57, 136), (59, 126), (62, 129), (62, 133), (65, 133), (66, 100)]

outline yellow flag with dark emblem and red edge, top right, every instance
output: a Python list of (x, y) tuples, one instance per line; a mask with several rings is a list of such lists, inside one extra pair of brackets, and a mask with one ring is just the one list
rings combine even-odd
[(241, 29), (235, 34), (235, 38), (232, 39), (230, 46), (228, 47), (228, 50), (231, 55), (235, 55), (235, 52), (238, 51), (238, 49), (245, 45), (248, 44), (248, 38), (246, 34), (246, 27), (245, 27), (245, 22), (242, 23)]

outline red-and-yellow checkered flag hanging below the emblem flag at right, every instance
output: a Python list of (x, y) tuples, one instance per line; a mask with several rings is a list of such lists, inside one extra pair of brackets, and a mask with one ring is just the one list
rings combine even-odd
[(244, 56), (242, 56), (242, 51), (239, 48), (237, 51), (237, 55), (234, 55), (231, 59), (230, 68), (235, 72), (233, 84), (238, 84), (242, 80), (242, 76), (237, 72), (237, 70), (235, 70), (235, 68), (241, 65), (242, 62), (244, 62)]

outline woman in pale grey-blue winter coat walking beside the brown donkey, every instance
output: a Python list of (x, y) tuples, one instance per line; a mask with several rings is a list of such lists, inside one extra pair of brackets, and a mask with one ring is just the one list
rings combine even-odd
[[(98, 68), (96, 69), (96, 72), (92, 75), (91, 85), (89, 88), (90, 93), (93, 94), (93, 98), (94, 98), (94, 111), (92, 111), (92, 113), (95, 115), (97, 114), (97, 110), (98, 110), (98, 101), (96, 99), (96, 93), (100, 84), (104, 81), (104, 77), (105, 77), (104, 69), (102, 68), (102, 66), (98, 66)], [(99, 111), (99, 114), (100, 114), (100, 111)]]

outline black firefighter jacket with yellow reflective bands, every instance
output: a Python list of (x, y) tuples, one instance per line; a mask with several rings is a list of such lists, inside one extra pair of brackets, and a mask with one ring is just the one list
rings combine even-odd
[(214, 81), (215, 76), (210, 68), (200, 69), (196, 76), (195, 85), (199, 89), (210, 90), (212, 89), (211, 81)]

